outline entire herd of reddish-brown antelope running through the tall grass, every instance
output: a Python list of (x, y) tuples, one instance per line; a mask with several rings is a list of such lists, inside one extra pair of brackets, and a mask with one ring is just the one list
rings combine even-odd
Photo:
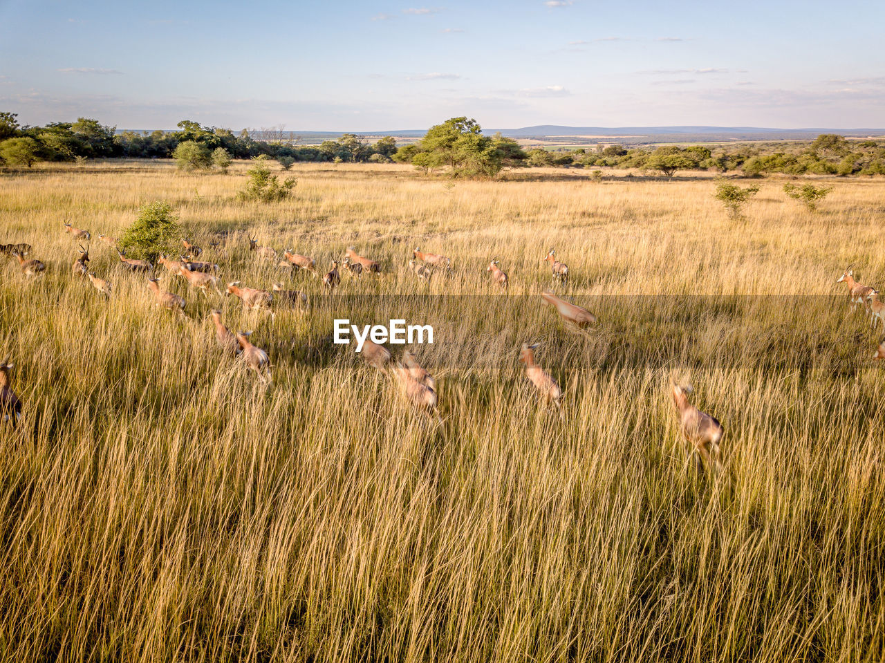
[[(90, 283), (104, 297), (112, 296), (112, 283), (96, 276), (89, 268), (89, 245), (84, 247), (82, 242), (89, 242), (91, 234), (89, 230), (73, 227), (65, 222), (65, 233), (72, 235), (78, 240), (79, 255), (73, 261), (71, 267), (74, 277), (87, 277)], [(125, 251), (118, 248), (118, 243), (113, 237), (98, 235), (100, 241), (106, 243), (117, 252), (120, 266), (131, 273), (141, 273), (147, 276), (147, 287), (150, 289), (155, 305), (159, 308), (170, 310), (187, 317), (187, 302), (184, 297), (171, 291), (160, 288), (161, 277), (155, 273), (155, 266), (147, 260), (127, 258)], [(243, 309), (249, 311), (266, 312), (273, 320), (274, 297), (283, 305), (296, 306), (304, 309), (307, 297), (303, 292), (285, 289), (282, 283), (274, 282), (271, 290), (246, 288), (240, 281), (230, 281), (226, 284), (225, 291), (219, 289), (219, 266), (215, 263), (196, 260), (203, 250), (189, 240), (182, 241), (183, 251), (178, 259), (160, 254), (157, 263), (163, 266), (168, 274), (180, 276), (187, 282), (189, 289), (196, 289), (204, 297), (211, 297), (214, 291), (219, 297), (231, 295), (241, 300)], [(218, 249), (219, 243), (211, 244), (212, 248)], [(316, 261), (308, 256), (300, 255), (292, 250), (283, 251), (282, 258), (277, 251), (268, 246), (260, 246), (253, 237), (249, 237), (249, 250), (258, 258), (277, 262), (281, 266), (287, 266), (298, 271), (304, 270), (313, 276), (319, 276), (316, 270)], [(0, 253), (10, 255), (19, 262), (21, 272), (29, 278), (33, 278), (45, 271), (46, 266), (37, 259), (27, 258), (31, 251), (29, 244), (0, 244)], [(556, 251), (550, 249), (543, 258), (543, 262), (550, 265), (551, 275), (554, 281), (566, 284), (569, 279), (569, 269), (565, 263), (556, 257)], [(323, 285), (326, 289), (334, 289), (341, 283), (341, 275), (338, 266), (341, 264), (346, 272), (353, 277), (362, 274), (382, 274), (381, 264), (371, 258), (360, 256), (353, 247), (348, 247), (344, 252), (342, 261), (334, 260), (331, 269), (323, 275)], [(451, 269), (451, 259), (436, 253), (428, 253), (415, 248), (412, 258), (408, 263), (409, 271), (417, 278), (429, 280), (436, 269)], [(500, 261), (493, 258), (489, 262), (486, 271), (491, 276), (491, 282), (501, 289), (507, 289), (509, 279), (500, 267)], [(854, 273), (849, 266), (837, 283), (844, 282), (848, 286), (850, 303), (854, 307), (862, 305), (871, 316), (873, 327), (882, 321), (885, 327), (885, 304), (881, 303), (877, 296), (879, 292), (872, 287), (859, 283), (854, 278)], [(563, 297), (554, 295), (549, 289), (543, 291), (543, 303), (556, 309), (566, 325), (573, 328), (586, 328), (596, 324), (596, 316), (581, 306), (574, 305)], [(250, 342), (251, 332), (231, 332), (221, 319), (221, 311), (213, 308), (210, 312), (212, 322), (216, 330), (216, 340), (219, 349), (227, 355), (242, 358), (245, 366), (258, 375), (261, 382), (270, 385), (272, 383), (271, 364), (267, 352)], [(535, 360), (535, 350), (538, 343), (523, 343), (519, 351), (519, 360), (526, 365), (526, 377), (538, 391), (543, 402), (555, 406), (557, 409), (562, 404), (563, 390), (553, 377), (540, 366)], [(405, 351), (398, 361), (394, 361), (390, 351), (378, 343), (366, 340), (361, 351), (361, 356), (370, 366), (380, 370), (389, 370), (389, 373), (398, 382), (404, 397), (419, 408), (427, 412), (435, 412), (438, 405), (436, 382), (427, 370), (420, 366), (412, 352)], [(874, 358), (885, 358), (885, 340), (879, 345)], [(21, 416), (21, 402), (12, 390), (10, 372), (14, 365), (4, 359), (0, 364), (0, 413), (3, 420), (12, 421), (14, 424)], [(688, 395), (691, 393), (691, 385), (672, 383), (673, 405), (680, 420), (680, 432), (689, 443), (689, 458), (694, 457), (698, 466), (702, 466), (702, 460), (711, 469), (720, 470), (721, 450), (720, 442), (723, 436), (723, 428), (718, 420), (706, 412), (701, 412), (689, 403)]]

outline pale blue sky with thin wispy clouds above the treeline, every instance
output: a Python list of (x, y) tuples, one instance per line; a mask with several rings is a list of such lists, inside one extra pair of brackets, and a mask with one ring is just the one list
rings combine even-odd
[(0, 110), (120, 128), (885, 127), (885, 3), (0, 0)]

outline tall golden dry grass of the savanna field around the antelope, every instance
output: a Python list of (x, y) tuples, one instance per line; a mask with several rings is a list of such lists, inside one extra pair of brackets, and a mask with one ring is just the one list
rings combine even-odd
[[(0, 264), (0, 355), (24, 403), (0, 428), (0, 658), (885, 658), (882, 332), (835, 282), (853, 264), (885, 286), (881, 178), (827, 179), (816, 212), (788, 179), (753, 181), (734, 220), (706, 175), (297, 165), (293, 197), (262, 204), (237, 198), (247, 167), (0, 174), (0, 243), (47, 266)], [(162, 269), (189, 318), (156, 309), (97, 240), (155, 200), (222, 290), (281, 281), (308, 310), (243, 312)], [(109, 300), (72, 275), (65, 220), (92, 233)], [(320, 274), (352, 245), (385, 274), (330, 294), (249, 236)], [(450, 274), (417, 280), (416, 246)], [(548, 288), (596, 325), (563, 324)], [(217, 348), (216, 307), (267, 351), (269, 387)], [(332, 343), (344, 317), (434, 325), (412, 351), (435, 415)], [(561, 411), (527, 382), (525, 342)], [(722, 422), (719, 474), (689, 462), (672, 381)]]

